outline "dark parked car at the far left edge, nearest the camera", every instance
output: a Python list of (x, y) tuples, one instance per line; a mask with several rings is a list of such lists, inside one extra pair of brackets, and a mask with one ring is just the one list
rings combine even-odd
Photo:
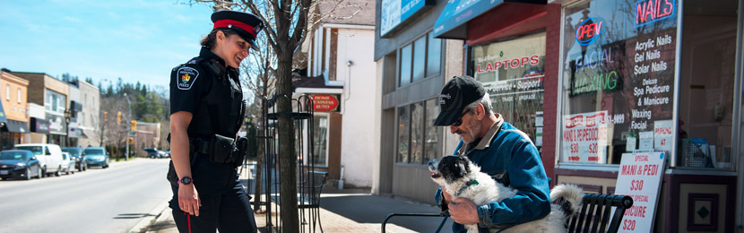
[(44, 173), (41, 171), (39, 160), (31, 151), (15, 150), (0, 151), (0, 177), (22, 178), (29, 180), (31, 177), (41, 178)]

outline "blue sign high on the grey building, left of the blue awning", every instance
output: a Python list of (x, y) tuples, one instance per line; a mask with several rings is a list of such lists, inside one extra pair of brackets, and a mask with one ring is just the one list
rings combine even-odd
[(380, 37), (383, 38), (387, 33), (394, 30), (405, 22), (415, 13), (420, 13), (425, 5), (426, 0), (382, 0), (380, 7)]

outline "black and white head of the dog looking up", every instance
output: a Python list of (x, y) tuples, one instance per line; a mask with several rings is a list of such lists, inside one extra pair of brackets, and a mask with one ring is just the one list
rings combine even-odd
[(470, 162), (464, 156), (445, 156), (438, 162), (437, 160), (429, 161), (428, 170), (431, 172), (431, 179), (434, 182), (439, 186), (445, 186), (470, 173)]

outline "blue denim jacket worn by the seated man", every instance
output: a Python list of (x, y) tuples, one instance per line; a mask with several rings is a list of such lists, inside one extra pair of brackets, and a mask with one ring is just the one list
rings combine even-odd
[[(539, 220), (549, 214), (549, 178), (542, 167), (540, 153), (527, 134), (503, 122), (501, 116), (497, 116), (497, 123), (491, 126), (478, 145), (468, 148), (461, 140), (454, 155), (467, 156), (480, 166), (480, 171), (517, 190), (515, 197), (478, 206), (480, 232), (488, 232), (487, 228), (492, 226), (507, 227)], [(442, 204), (441, 187), (435, 200)], [(452, 229), (453, 232), (466, 232), (464, 226), (456, 222)]]

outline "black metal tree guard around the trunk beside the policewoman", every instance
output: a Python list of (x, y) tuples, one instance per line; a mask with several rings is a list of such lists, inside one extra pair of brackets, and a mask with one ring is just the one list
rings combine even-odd
[[(295, 108), (294, 112), (279, 112), (276, 107), (278, 99), (290, 100)], [(257, 138), (264, 140), (264, 168), (267, 171), (265, 174), (264, 181), (264, 194), (266, 194), (267, 201), (263, 203), (266, 206), (265, 222), (266, 230), (268, 232), (283, 232), (281, 229), (281, 212), (279, 212), (279, 194), (281, 174), (279, 169), (281, 167), (278, 156), (280, 154), (279, 144), (282, 142), (279, 140), (278, 132), (278, 119), (279, 116), (290, 116), (291, 122), (295, 124), (294, 139), (296, 141), (295, 153), (298, 156), (298, 174), (292, 174), (297, 176), (298, 180), (298, 211), (300, 220), (300, 229), (287, 229), (288, 232), (316, 232), (316, 226), (321, 228), (320, 225), (320, 209), (317, 204), (320, 196), (320, 189), (315, 187), (322, 187), (323, 181), (316, 180), (314, 174), (316, 174), (315, 168), (315, 139), (314, 139), (314, 110), (313, 110), (313, 99), (307, 95), (302, 95), (298, 99), (290, 99), (286, 95), (274, 96), (271, 99), (263, 99), (262, 117), (261, 120), (264, 124), (263, 131)], [(307, 126), (307, 128), (306, 128)], [(307, 139), (307, 146), (305, 140)], [(304, 150), (304, 149), (307, 149)], [(304, 164), (306, 161), (305, 157), (309, 157), (307, 165)], [(287, 174), (285, 174), (286, 176)], [(325, 174), (327, 175), (327, 174)], [(307, 198), (309, 197), (309, 198)], [(304, 211), (304, 209), (307, 209)], [(276, 212), (274, 212), (276, 211)]]

